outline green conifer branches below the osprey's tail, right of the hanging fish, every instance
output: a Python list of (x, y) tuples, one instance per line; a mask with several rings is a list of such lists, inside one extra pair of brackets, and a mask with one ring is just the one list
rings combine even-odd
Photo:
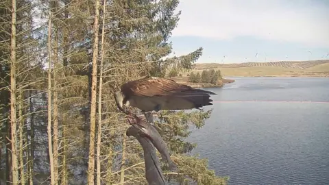
[[(197, 146), (196, 143), (186, 141), (186, 138), (191, 134), (189, 128), (191, 126), (197, 129), (203, 127), (211, 112), (212, 110), (191, 112), (162, 110), (162, 116), (156, 116), (155, 124), (167, 143), (169, 151), (173, 153), (171, 158), (180, 168), (179, 173), (164, 172), (169, 180), (180, 184), (197, 182), (197, 184), (217, 185), (227, 183), (228, 177), (217, 177), (215, 171), (208, 169), (208, 160), (182, 155), (191, 152)], [(162, 164), (162, 166), (167, 171), (167, 164)], [(189, 178), (186, 178), (186, 175)]]

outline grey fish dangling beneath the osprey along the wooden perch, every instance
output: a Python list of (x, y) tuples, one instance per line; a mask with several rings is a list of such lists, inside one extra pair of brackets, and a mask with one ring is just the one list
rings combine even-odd
[(146, 123), (145, 121), (139, 119), (137, 116), (135, 116), (135, 123), (132, 124), (134, 127), (137, 127), (138, 129), (143, 132), (143, 136), (147, 136), (153, 143), (154, 147), (158, 149), (158, 151), (161, 154), (161, 161), (165, 162), (167, 161), (169, 165), (169, 170), (173, 172), (178, 171), (177, 165), (171, 160), (170, 154), (169, 154), (169, 149), (167, 147), (167, 144), (164, 142), (162, 139), (161, 135), (159, 134), (157, 128), (155, 125), (150, 125)]

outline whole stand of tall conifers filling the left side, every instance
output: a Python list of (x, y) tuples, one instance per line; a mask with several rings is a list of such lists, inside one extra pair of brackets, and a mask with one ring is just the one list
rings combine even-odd
[[(112, 92), (172, 69), (189, 71), (202, 47), (173, 56), (178, 0), (0, 2), (0, 184), (146, 184), (143, 150)], [(162, 130), (180, 173), (171, 182), (226, 184), (208, 161), (186, 155), (189, 127), (211, 110), (163, 111)], [(186, 175), (188, 177), (186, 177)]]

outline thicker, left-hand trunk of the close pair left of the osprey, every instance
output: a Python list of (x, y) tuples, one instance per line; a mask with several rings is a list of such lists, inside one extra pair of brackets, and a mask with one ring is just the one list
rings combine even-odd
[(94, 46), (93, 46), (93, 71), (91, 82), (91, 104), (90, 104), (90, 140), (88, 159), (88, 184), (94, 184), (95, 171), (95, 125), (96, 125), (96, 95), (97, 95), (97, 58), (98, 58), (98, 18), (99, 0), (95, 2), (95, 23), (94, 23)]

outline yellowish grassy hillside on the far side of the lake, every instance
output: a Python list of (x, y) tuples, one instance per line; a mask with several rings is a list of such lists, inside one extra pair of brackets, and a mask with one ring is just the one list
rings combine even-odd
[[(193, 71), (220, 69), (223, 76), (329, 77), (329, 60), (196, 64)], [(184, 76), (187, 73), (183, 74)]]

